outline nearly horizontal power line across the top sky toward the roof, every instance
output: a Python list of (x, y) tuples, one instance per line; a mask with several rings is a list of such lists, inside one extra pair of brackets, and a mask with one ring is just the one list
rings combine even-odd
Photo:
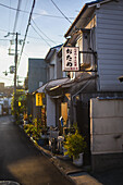
[[(9, 5), (5, 5), (5, 4), (2, 4), (2, 3), (0, 3), (0, 5), (1, 7), (4, 7), (4, 8), (7, 8), (7, 9), (11, 9), (11, 10), (14, 10), (14, 11), (16, 11), (17, 9), (15, 9), (15, 8), (12, 8), (12, 7), (9, 7)], [(24, 10), (19, 10), (20, 12), (24, 12), (24, 13), (29, 13), (28, 11), (24, 11)], [(53, 17), (53, 18), (64, 18), (64, 17), (62, 17), (62, 16), (57, 16), (57, 15), (47, 15), (47, 14), (41, 14), (41, 13), (36, 13), (36, 12), (34, 12), (34, 14), (35, 15), (41, 15), (41, 16), (48, 16), (48, 17)], [(70, 20), (74, 20), (75, 17), (69, 17)]]

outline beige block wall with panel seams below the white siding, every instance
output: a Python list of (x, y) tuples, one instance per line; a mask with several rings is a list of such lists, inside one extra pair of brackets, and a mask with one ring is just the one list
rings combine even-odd
[(123, 100), (90, 100), (91, 155), (123, 152)]

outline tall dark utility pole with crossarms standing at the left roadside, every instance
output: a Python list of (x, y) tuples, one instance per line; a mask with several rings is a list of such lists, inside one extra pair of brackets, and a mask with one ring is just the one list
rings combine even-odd
[(15, 72), (14, 72), (14, 113), (15, 113), (15, 120), (16, 120), (16, 72), (17, 72), (17, 33), (15, 34), (15, 57), (14, 57), (14, 63), (15, 63)]

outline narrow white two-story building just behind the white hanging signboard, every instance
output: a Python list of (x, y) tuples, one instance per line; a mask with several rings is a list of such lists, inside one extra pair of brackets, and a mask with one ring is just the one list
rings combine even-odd
[(60, 96), (52, 96), (51, 91), (54, 86), (59, 86), (67, 81), (65, 72), (62, 72), (62, 60), (58, 57), (61, 48), (56, 46), (49, 50), (45, 61), (47, 63), (47, 126), (60, 127), (61, 100)]

